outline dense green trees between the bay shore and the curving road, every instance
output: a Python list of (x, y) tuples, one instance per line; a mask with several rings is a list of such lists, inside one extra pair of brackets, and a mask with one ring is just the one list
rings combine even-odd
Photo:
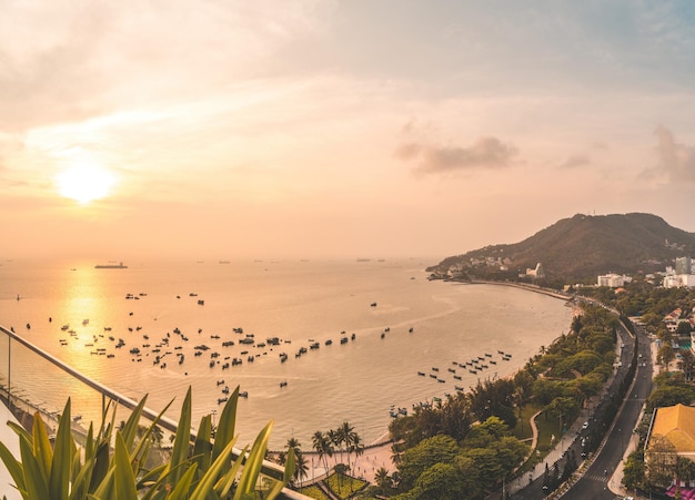
[(542, 408), (542, 418), (557, 429), (571, 424), (612, 371), (617, 325), (604, 308), (584, 305), (571, 331), (541, 347), (514, 377), (482, 380), (470, 392), (394, 419), (397, 471), (382, 471), (367, 492), (399, 500), (479, 499), (498, 489), (530, 455), (512, 433), (523, 409)]

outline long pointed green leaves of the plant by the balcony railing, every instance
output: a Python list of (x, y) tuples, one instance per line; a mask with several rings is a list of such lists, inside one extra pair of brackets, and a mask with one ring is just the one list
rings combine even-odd
[[(8, 422), (18, 433), (21, 460), (0, 442), (0, 458), (26, 500), (118, 500), (118, 499), (245, 499), (253, 498), (272, 421), (234, 459), (234, 426), (239, 388), (222, 410), (212, 439), (210, 415), (201, 419), (197, 436), (191, 437), (191, 389), (181, 408), (181, 416), (169, 461), (145, 469), (152, 449), (153, 430), (171, 402), (139, 436), (139, 422), (147, 396), (133, 409), (122, 429), (114, 427), (115, 408), (109, 408), (99, 429), (90, 422), (83, 447), (71, 432), (70, 399), (60, 417), (56, 441), (51, 445), (40, 414), (34, 414), (32, 432)], [(243, 460), (241, 459), (243, 458)], [(242, 465), (243, 462), (243, 465)], [(270, 480), (263, 498), (275, 498), (294, 472), (294, 455), (288, 456), (282, 481)]]

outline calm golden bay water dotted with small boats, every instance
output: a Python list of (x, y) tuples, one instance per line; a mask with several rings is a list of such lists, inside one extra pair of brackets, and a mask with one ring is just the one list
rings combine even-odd
[[(1, 264), (0, 325), (113, 390), (133, 399), (148, 394), (155, 411), (175, 398), (171, 418), (192, 387), (194, 425), (221, 410), (225, 386), (240, 386), (249, 397), (239, 404), (239, 443), (273, 420), (275, 449), (290, 437), (309, 449), (314, 431), (344, 420), (364, 442), (377, 441), (392, 409), (512, 375), (566, 331), (572, 316), (563, 300), (532, 292), (430, 282), (431, 263), (420, 261)], [(248, 335), (254, 344), (240, 344)], [(280, 345), (269, 345), (271, 337)], [(209, 349), (195, 349), (202, 345)], [(38, 406), (57, 411), (68, 394), (85, 420), (99, 420), (99, 405), (77, 385), (21, 349), (12, 355), (12, 386)], [(477, 374), (454, 364), (479, 356), (496, 364)], [(223, 368), (233, 358), (243, 363)]]

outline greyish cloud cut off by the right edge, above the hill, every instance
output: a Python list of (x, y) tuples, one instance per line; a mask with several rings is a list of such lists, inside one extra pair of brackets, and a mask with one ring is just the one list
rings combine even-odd
[(695, 182), (695, 147), (677, 143), (664, 125), (657, 126), (654, 134), (658, 140), (658, 163), (646, 176), (666, 176), (674, 183)]

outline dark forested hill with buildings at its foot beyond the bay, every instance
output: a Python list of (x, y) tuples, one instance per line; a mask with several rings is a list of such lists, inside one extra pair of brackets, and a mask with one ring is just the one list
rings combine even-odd
[(515, 244), (492, 245), (446, 257), (429, 268), (435, 276), (452, 269), (461, 277), (518, 279), (541, 263), (547, 280), (590, 280), (610, 272), (651, 273), (695, 256), (695, 233), (642, 213), (564, 218)]

